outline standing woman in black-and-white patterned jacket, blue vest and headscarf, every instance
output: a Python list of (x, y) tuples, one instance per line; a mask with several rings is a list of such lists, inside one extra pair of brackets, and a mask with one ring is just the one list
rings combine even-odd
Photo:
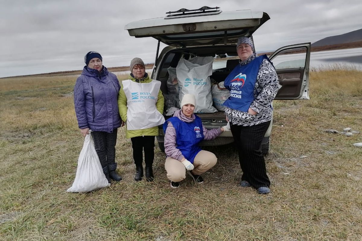
[(278, 76), (266, 55), (257, 56), (250, 38), (239, 38), (236, 50), (240, 61), (225, 79), (230, 96), (224, 106), (243, 171), (240, 185), (267, 194), (270, 181), (261, 143), (273, 113), (271, 102), (279, 90)]

